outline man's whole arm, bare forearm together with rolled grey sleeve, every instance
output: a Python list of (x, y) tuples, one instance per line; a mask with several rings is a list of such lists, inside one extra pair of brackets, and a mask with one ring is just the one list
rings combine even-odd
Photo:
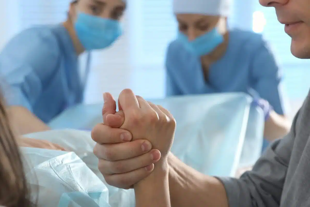
[[(240, 179), (202, 175), (169, 156), (169, 187), (173, 207), (279, 206), (294, 145), (295, 124), (286, 137), (277, 140)], [(222, 184), (223, 183), (223, 184)]]

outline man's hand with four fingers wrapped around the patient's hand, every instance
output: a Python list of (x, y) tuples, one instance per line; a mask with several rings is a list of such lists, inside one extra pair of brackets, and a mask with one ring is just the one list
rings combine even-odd
[(128, 189), (152, 173), (161, 155), (148, 140), (132, 140), (132, 134), (120, 129), (125, 121), (124, 113), (116, 112), (116, 102), (109, 93), (104, 94), (102, 109), (104, 124), (93, 128), (91, 137), (97, 142), (94, 153), (99, 158), (99, 170), (106, 182), (118, 188)]

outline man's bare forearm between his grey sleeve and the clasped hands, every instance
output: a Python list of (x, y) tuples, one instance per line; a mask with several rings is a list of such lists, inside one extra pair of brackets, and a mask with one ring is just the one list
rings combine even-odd
[(182, 163), (170, 153), (169, 188), (172, 207), (228, 207), (223, 184)]

